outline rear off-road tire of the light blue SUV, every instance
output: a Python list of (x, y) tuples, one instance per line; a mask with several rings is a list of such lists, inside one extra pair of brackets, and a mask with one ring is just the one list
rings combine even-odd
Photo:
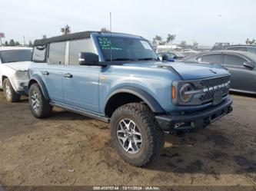
[[(35, 110), (32, 104), (32, 96), (34, 94), (38, 95), (38, 109)], [(29, 87), (28, 91), (28, 101), (29, 107), (32, 111), (32, 114), (37, 118), (45, 118), (49, 117), (52, 114), (52, 106), (49, 104), (49, 101), (45, 99), (44, 94), (42, 94), (42, 90), (38, 84), (32, 84)]]

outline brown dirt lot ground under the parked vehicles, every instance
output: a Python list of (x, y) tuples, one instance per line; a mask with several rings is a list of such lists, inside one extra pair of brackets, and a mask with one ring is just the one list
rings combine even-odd
[(38, 120), (26, 97), (10, 104), (0, 91), (0, 184), (256, 185), (256, 98), (233, 97), (233, 113), (167, 134), (158, 160), (138, 168), (112, 149), (107, 123), (60, 109)]

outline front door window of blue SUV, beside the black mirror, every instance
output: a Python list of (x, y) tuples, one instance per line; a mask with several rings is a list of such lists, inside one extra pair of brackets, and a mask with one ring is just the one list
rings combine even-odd
[(95, 53), (91, 38), (69, 41), (69, 62), (70, 65), (79, 64), (80, 52), (92, 52)]

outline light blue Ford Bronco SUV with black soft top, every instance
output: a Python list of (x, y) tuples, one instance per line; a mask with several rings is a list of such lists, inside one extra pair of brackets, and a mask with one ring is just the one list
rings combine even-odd
[(36, 40), (29, 69), (35, 117), (52, 107), (110, 122), (128, 163), (144, 166), (164, 132), (206, 127), (231, 112), (230, 74), (214, 64), (160, 61), (145, 38), (85, 31)]

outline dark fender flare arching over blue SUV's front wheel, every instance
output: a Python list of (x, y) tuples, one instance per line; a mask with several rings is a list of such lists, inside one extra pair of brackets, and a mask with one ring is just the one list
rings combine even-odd
[(120, 93), (128, 93), (128, 94), (133, 94), (137, 97), (139, 97), (141, 100), (143, 100), (146, 104), (148, 104), (148, 107), (154, 112), (158, 114), (165, 113), (166, 111), (161, 107), (161, 105), (158, 103), (157, 100), (155, 100), (154, 97), (151, 96), (151, 94), (148, 94), (148, 92), (143, 91), (139, 89), (138, 87), (121, 87), (118, 88), (117, 90), (111, 92), (111, 94), (108, 96), (108, 99), (105, 103), (105, 107), (108, 105), (108, 101), (111, 99), (111, 97), (115, 96), (115, 94), (120, 94)]

